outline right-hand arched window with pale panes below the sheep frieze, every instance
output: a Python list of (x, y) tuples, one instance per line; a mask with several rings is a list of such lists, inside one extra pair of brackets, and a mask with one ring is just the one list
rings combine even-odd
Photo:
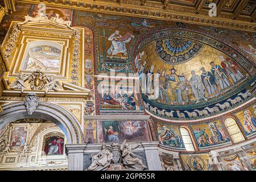
[(234, 143), (241, 142), (245, 140), (240, 127), (237, 125), (236, 119), (234, 118), (226, 118), (224, 121), (224, 125), (229, 132), (230, 137), (232, 138)]

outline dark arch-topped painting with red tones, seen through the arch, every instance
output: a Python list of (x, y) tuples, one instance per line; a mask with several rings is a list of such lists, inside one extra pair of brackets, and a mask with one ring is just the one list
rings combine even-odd
[(64, 138), (59, 136), (48, 137), (44, 141), (46, 155), (63, 155)]

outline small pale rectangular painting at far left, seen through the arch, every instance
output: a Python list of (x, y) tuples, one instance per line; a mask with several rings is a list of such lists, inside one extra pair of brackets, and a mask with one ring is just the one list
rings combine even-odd
[(22, 147), (25, 146), (27, 140), (27, 131), (24, 126), (15, 126), (11, 131), (10, 147)]

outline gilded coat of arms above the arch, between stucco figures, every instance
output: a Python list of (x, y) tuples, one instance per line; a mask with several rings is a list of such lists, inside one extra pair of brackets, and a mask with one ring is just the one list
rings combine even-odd
[(44, 73), (40, 70), (36, 70), (35, 72), (31, 73), (28, 80), (32, 90), (42, 90), (47, 84), (47, 76), (44, 75)]

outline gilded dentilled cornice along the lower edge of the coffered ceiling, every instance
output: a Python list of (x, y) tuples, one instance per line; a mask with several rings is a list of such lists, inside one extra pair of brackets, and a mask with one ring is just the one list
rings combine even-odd
[[(93, 0), (55, 0), (55, 1), (46, 1), (46, 0), (16, 0), (17, 2), (25, 3), (44, 3), (46, 6), (57, 6), (67, 9), (77, 9), (77, 10), (86, 10), (94, 11), (101, 13), (109, 14), (119, 14), (119, 15), (128, 15), (128, 16), (138, 16), (145, 18), (154, 18), (162, 20), (174, 20), (179, 22), (187, 22), (194, 24), (204, 24), (208, 26), (216, 27), (225, 27), (232, 28), (243, 31), (254, 31), (256, 30), (256, 23), (249, 22), (250, 18), (246, 22), (245, 20), (236, 20), (231, 19), (232, 14), (224, 14), (217, 17), (210, 17), (208, 15), (208, 10), (202, 10), (203, 14), (196, 14), (195, 7), (187, 7), (180, 5), (171, 5), (167, 6), (166, 9), (163, 9), (163, 3), (157, 2), (145, 2), (143, 6), (141, 3), (144, 1), (122, 1), (122, 3), (117, 3), (116, 1), (93, 1)], [(151, 4), (149, 4), (151, 3)], [(231, 17), (230, 17), (231, 16)]]

